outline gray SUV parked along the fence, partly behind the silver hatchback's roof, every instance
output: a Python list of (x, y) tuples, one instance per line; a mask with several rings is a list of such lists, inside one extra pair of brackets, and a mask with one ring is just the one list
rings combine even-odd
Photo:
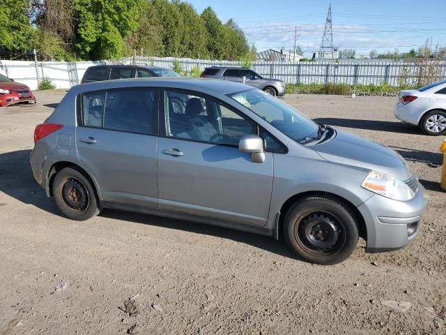
[(272, 96), (285, 95), (285, 82), (283, 80), (263, 78), (253, 70), (249, 70), (249, 68), (213, 66), (206, 68), (201, 73), (201, 77), (230, 80), (231, 82), (243, 82), (245, 80), (245, 84), (261, 89)]

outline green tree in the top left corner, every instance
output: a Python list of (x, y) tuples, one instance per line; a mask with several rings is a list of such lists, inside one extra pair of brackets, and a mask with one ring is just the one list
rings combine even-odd
[(23, 54), (33, 49), (36, 29), (31, 25), (29, 0), (2, 0), (0, 4), (0, 49)]

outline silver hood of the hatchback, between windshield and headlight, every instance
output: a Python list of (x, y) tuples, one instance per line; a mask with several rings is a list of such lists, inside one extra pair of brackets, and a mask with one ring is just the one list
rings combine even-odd
[(332, 140), (314, 145), (312, 149), (327, 161), (385, 172), (403, 181), (410, 178), (407, 163), (401, 155), (358, 135), (337, 130)]

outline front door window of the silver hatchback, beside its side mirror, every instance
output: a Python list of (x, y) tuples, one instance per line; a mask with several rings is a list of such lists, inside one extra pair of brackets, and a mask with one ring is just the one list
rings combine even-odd
[[(185, 102), (183, 113), (174, 108), (174, 102), (178, 100)], [(240, 138), (255, 130), (252, 121), (203, 96), (166, 91), (164, 109), (166, 134), (170, 137), (238, 145)]]

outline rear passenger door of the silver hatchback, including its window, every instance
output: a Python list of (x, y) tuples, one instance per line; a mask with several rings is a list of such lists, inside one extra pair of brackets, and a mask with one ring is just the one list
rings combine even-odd
[(157, 89), (82, 94), (76, 145), (103, 200), (157, 207)]

